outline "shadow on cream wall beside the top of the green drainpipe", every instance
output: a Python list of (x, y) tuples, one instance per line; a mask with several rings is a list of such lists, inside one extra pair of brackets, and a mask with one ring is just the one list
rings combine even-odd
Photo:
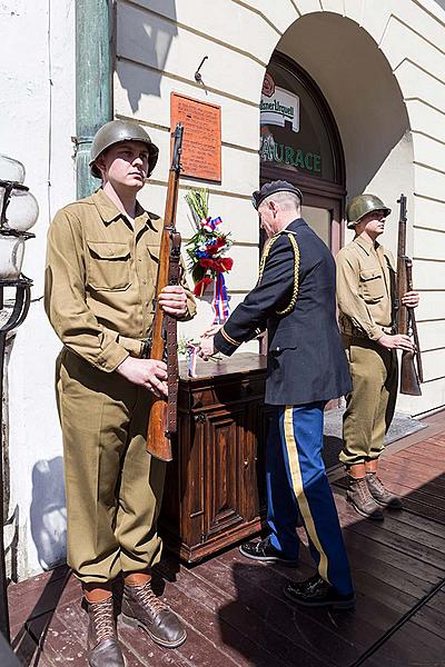
[[(142, 94), (160, 97), (168, 52), (178, 34), (175, 23), (176, 0), (162, 0), (162, 14), (169, 20), (122, 3), (118, 4), (117, 12), (116, 70), (135, 113)], [(135, 66), (134, 62), (150, 69)]]

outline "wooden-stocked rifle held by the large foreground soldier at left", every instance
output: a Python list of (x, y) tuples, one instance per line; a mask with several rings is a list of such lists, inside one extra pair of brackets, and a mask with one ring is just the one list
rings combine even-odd
[[(184, 127), (176, 126), (174, 153), (168, 177), (164, 231), (159, 250), (156, 296), (166, 285), (179, 283), (180, 233), (176, 231), (180, 155)], [(168, 399), (152, 397), (147, 429), (147, 451), (162, 461), (171, 461), (171, 438), (177, 431), (178, 350), (177, 321), (157, 307), (151, 332), (151, 359), (167, 362)]]

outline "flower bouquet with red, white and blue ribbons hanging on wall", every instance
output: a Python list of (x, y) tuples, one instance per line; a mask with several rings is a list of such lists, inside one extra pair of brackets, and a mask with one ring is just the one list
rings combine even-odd
[(214, 323), (224, 323), (229, 315), (227, 288), (224, 273), (230, 271), (234, 260), (222, 257), (233, 245), (230, 233), (220, 231), (220, 218), (208, 212), (208, 190), (190, 190), (186, 195), (195, 225), (195, 233), (186, 245), (189, 270), (195, 282), (194, 293), (201, 297), (206, 287), (215, 282)]

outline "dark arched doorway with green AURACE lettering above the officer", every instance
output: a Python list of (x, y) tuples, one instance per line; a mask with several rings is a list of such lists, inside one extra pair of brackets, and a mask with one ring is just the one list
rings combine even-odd
[(303, 217), (336, 253), (346, 196), (340, 136), (318, 86), (278, 51), (264, 79), (260, 133), (261, 185), (284, 179), (298, 186)]

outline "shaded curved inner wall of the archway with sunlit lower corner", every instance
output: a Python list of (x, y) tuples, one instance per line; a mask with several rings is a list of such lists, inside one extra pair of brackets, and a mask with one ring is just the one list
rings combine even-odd
[(330, 106), (345, 151), (348, 196), (370, 187), (393, 201), (400, 191), (412, 191), (406, 107), (370, 34), (345, 17), (314, 12), (285, 32), (277, 50), (306, 69)]

